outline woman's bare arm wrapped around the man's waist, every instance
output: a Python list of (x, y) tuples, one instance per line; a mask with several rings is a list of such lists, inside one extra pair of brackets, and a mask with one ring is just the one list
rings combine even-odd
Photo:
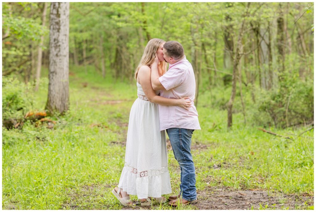
[(180, 106), (186, 110), (189, 110), (187, 107), (191, 107), (191, 101), (187, 100), (188, 97), (183, 97), (181, 99), (168, 99), (162, 96), (157, 96), (151, 86), (150, 68), (148, 66), (142, 66), (137, 75), (143, 91), (150, 102), (165, 106)]

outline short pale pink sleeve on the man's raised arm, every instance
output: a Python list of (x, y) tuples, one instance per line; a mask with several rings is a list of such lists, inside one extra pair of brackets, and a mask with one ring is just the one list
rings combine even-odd
[(169, 90), (171, 88), (179, 86), (184, 79), (184, 70), (181, 69), (170, 69), (164, 75), (158, 78), (161, 85)]

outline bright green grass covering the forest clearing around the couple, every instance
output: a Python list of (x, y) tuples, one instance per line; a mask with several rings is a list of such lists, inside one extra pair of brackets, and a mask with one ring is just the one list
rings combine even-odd
[[(70, 76), (70, 111), (63, 117), (53, 117), (57, 121), (53, 130), (31, 123), (24, 124), (22, 130), (3, 128), (3, 209), (122, 208), (111, 191), (124, 166), (125, 146), (121, 142), (126, 139), (129, 111), (137, 98), (136, 83), (102, 79), (92, 69), (87, 75), (82, 67), (71, 70), (75, 76)], [(35, 93), (34, 108), (45, 107), (46, 73), (44, 70), (40, 90)], [(233, 130), (227, 132), (227, 112), (208, 107), (209, 97), (208, 92), (200, 96), (197, 110), (202, 130), (194, 131), (192, 138), (192, 146), (207, 146), (192, 149), (197, 190), (228, 186), (313, 195), (314, 166), (309, 159), (313, 158), (313, 130), (299, 138), (291, 135), (293, 140), (289, 140), (251, 124), (244, 126), (239, 112), (233, 115)], [(305, 129), (269, 130), (289, 136)], [(180, 182), (172, 151), (168, 160), (175, 195)], [(220, 168), (213, 168), (219, 164)], [(195, 206), (171, 208), (163, 204), (152, 209)], [(262, 205), (260, 209), (273, 208)]]

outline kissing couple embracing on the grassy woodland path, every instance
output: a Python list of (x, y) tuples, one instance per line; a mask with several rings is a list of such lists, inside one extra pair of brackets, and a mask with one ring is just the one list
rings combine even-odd
[(168, 204), (195, 203), (191, 138), (193, 131), (201, 128), (194, 106), (195, 76), (182, 45), (177, 41), (149, 40), (135, 71), (135, 79), (138, 98), (129, 117), (125, 166), (119, 185), (112, 193), (126, 207), (135, 205), (130, 195), (137, 195), (142, 206), (167, 201), (162, 196), (172, 192), (167, 132), (181, 171), (179, 193), (168, 197)]

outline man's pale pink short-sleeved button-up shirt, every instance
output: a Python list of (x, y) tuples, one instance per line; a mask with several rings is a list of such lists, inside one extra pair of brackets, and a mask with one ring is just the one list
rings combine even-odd
[(160, 91), (160, 96), (169, 99), (180, 99), (188, 96), (191, 100), (189, 110), (179, 106), (159, 105), (160, 130), (168, 128), (185, 128), (200, 130), (197, 109), (194, 106), (195, 76), (191, 63), (184, 57), (174, 64), (169, 64), (168, 71), (159, 81), (165, 89)]

